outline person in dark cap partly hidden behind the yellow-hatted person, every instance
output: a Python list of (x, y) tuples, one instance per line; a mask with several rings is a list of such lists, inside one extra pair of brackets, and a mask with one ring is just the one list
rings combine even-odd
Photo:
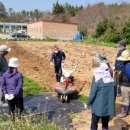
[(119, 42), (119, 51), (116, 56), (116, 61), (115, 61), (115, 74), (114, 74), (114, 79), (117, 85), (117, 96), (121, 96), (121, 88), (119, 86), (119, 74), (121, 72), (121, 69), (123, 68), (123, 61), (119, 61), (117, 58), (121, 56), (122, 52), (126, 50), (126, 43), (125, 41), (120, 41)]

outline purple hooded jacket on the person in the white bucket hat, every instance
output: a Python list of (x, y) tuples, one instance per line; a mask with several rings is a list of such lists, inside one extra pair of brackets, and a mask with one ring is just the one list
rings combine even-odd
[(3, 74), (2, 91), (4, 94), (13, 94), (15, 97), (23, 96), (23, 76), (17, 70), (13, 73), (7, 71)]

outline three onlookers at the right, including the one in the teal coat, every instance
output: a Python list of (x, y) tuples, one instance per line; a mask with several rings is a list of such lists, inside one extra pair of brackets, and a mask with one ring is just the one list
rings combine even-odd
[[(123, 118), (130, 114), (130, 52), (124, 41), (119, 42), (115, 61), (114, 77), (107, 57), (97, 54), (93, 58), (94, 68), (91, 91), (85, 108), (92, 109), (91, 130), (98, 129), (101, 119), (102, 130), (108, 130), (110, 116)], [(116, 97), (122, 96), (121, 113), (115, 113)]]

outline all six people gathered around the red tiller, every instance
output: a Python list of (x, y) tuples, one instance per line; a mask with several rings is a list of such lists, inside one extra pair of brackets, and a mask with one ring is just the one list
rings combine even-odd
[[(20, 62), (18, 58), (9, 59), (5, 56), (11, 51), (7, 45), (0, 46), (0, 105), (9, 107), (9, 113), (15, 118), (15, 107), (19, 115), (23, 113), (23, 76), (18, 71)], [(50, 58), (56, 73), (57, 84), (60, 84), (62, 76), (61, 64), (66, 59), (65, 53), (54, 47)], [(122, 96), (122, 110), (116, 115), (123, 118), (130, 114), (130, 52), (126, 49), (126, 43), (120, 41), (119, 52), (115, 61), (114, 76), (109, 61), (104, 54), (93, 57), (94, 69), (91, 91), (85, 108), (92, 108), (91, 130), (97, 130), (101, 118), (102, 130), (108, 130), (110, 116), (115, 115), (116, 97)]]

